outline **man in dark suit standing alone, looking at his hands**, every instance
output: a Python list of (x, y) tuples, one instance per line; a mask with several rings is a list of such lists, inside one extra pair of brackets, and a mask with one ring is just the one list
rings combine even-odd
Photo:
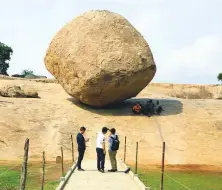
[(81, 167), (81, 163), (85, 154), (85, 150), (86, 150), (86, 142), (89, 141), (89, 139), (85, 139), (83, 134), (85, 133), (86, 128), (85, 127), (81, 127), (79, 133), (76, 136), (76, 141), (78, 144), (78, 152), (79, 152), (79, 157), (78, 157), (78, 161), (77, 161), (77, 167), (78, 167), (78, 171), (84, 171), (84, 169), (82, 169)]

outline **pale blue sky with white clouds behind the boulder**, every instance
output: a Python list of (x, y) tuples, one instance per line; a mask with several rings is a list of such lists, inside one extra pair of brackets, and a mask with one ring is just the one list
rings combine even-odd
[(222, 72), (222, 0), (0, 0), (0, 41), (13, 48), (9, 74), (51, 77), (46, 50), (74, 17), (95, 9), (124, 16), (147, 40), (154, 82), (215, 84)]

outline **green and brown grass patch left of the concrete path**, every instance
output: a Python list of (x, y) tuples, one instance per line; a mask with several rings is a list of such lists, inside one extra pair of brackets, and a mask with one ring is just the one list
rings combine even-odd
[[(71, 167), (71, 162), (64, 163), (65, 172)], [(18, 190), (20, 185), (21, 167), (10, 169), (11, 165), (0, 165), (0, 190)], [(44, 190), (53, 190), (59, 185), (61, 176), (61, 164), (48, 162), (46, 165)], [(42, 165), (41, 163), (29, 163), (26, 190), (41, 189)]]

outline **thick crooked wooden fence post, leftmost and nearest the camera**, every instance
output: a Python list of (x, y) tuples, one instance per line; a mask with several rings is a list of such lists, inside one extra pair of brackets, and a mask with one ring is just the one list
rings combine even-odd
[(20, 190), (25, 190), (26, 186), (28, 152), (29, 152), (29, 139), (27, 138), (25, 140), (25, 146), (24, 146), (24, 157), (23, 157), (22, 171), (20, 177)]

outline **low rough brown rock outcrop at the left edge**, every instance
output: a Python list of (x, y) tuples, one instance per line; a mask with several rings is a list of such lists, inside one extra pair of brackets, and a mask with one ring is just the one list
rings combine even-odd
[(12, 98), (39, 98), (33, 89), (21, 88), (20, 86), (7, 85), (0, 89), (0, 96)]

